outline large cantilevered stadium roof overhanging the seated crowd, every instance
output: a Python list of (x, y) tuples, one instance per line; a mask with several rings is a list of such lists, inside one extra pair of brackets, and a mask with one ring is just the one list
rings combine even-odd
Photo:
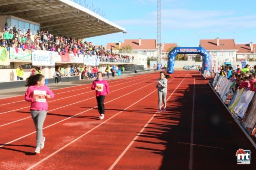
[(40, 24), (40, 30), (76, 39), (125, 32), (111, 21), (70, 0), (1, 0), (0, 15)]

